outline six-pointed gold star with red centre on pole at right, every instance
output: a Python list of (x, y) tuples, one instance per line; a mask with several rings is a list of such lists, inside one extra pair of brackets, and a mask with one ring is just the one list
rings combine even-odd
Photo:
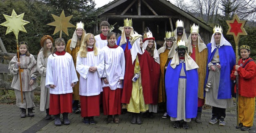
[(238, 41), (240, 35), (247, 35), (244, 29), (246, 20), (240, 20), (237, 14), (234, 15), (233, 20), (226, 20), (226, 22), (229, 27), (227, 35), (233, 35), (235, 41)]

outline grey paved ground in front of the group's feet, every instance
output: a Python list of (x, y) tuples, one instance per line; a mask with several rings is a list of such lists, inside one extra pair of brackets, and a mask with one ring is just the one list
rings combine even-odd
[[(236, 129), (236, 113), (234, 109), (227, 109), (226, 125), (212, 125), (208, 121), (211, 118), (211, 110), (203, 110), (202, 123), (189, 122), (189, 129), (174, 128), (169, 118), (162, 119), (160, 113), (155, 114), (153, 119), (143, 119), (142, 125), (130, 124), (131, 115), (120, 115), (119, 124), (107, 123), (106, 115), (100, 114), (95, 117), (96, 125), (84, 125), (80, 114), (69, 114), (70, 125), (56, 127), (54, 121), (44, 120), (45, 112), (35, 107), (35, 116), (20, 118), (20, 109), (16, 105), (0, 104), (0, 133), (253, 133), (256, 127), (250, 131)], [(62, 119), (62, 116), (61, 116)], [(256, 119), (254, 117), (254, 124)]]

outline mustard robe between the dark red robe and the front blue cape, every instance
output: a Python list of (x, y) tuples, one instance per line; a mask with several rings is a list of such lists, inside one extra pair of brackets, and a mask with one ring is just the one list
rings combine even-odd
[(159, 83), (159, 89), (158, 89), (158, 103), (166, 102), (166, 93), (165, 93), (165, 85), (164, 85), (164, 77), (165, 77), (164, 67), (166, 67), (169, 63), (168, 61), (170, 61), (170, 59), (168, 60), (169, 51), (170, 50), (166, 48), (166, 50), (164, 50), (163, 53), (159, 54), (161, 75), (160, 75), (160, 83)]

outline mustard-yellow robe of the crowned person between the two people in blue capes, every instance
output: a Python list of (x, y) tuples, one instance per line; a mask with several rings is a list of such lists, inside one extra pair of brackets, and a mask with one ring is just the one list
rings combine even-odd
[[(207, 56), (208, 51), (207, 48), (202, 50), (200, 53), (198, 51), (198, 46), (195, 47), (195, 54), (196, 54), (196, 64), (199, 66), (198, 68), (198, 98), (204, 99), (204, 81), (206, 76), (206, 65), (207, 65)], [(191, 53), (189, 53), (189, 56)]]

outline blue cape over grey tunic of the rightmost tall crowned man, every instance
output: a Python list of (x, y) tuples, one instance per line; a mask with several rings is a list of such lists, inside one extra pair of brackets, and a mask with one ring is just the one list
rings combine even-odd
[[(206, 65), (206, 79), (204, 86), (208, 82), (208, 75), (209, 75), (209, 69), (208, 64), (211, 62), (214, 53), (216, 52), (216, 48), (211, 53), (212, 50), (212, 44), (209, 43), (206, 45), (208, 49), (208, 58), (207, 58), (207, 65)], [(232, 97), (231, 95), (231, 89), (232, 89), (232, 83), (233, 81), (230, 79), (230, 73), (233, 69), (233, 66), (236, 64), (236, 56), (234, 53), (234, 50), (232, 46), (220, 46), (219, 49), (219, 57), (220, 57), (220, 83), (219, 83), (219, 89), (218, 89), (218, 99), (230, 99)], [(205, 91), (204, 91), (205, 95)]]

